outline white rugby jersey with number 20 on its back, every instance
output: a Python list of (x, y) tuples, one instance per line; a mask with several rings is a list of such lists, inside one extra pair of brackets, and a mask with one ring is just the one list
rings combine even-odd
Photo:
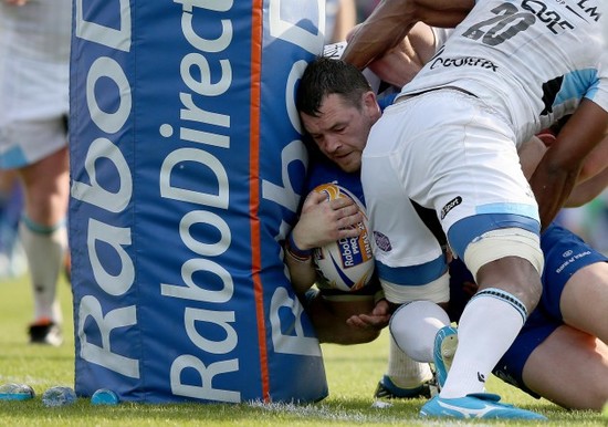
[(478, 0), (399, 96), (465, 90), (513, 126), (518, 143), (583, 97), (608, 111), (607, 0)]

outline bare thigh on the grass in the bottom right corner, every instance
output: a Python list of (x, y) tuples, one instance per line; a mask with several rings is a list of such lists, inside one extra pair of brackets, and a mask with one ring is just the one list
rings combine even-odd
[(608, 399), (608, 347), (562, 325), (532, 352), (523, 379), (531, 390), (560, 406), (599, 409)]

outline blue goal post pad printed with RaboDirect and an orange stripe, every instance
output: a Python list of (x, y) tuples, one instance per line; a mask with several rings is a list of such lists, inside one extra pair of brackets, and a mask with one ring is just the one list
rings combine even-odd
[(294, 105), (324, 0), (75, 0), (75, 389), (315, 402), (321, 347), (287, 279), (307, 157)]

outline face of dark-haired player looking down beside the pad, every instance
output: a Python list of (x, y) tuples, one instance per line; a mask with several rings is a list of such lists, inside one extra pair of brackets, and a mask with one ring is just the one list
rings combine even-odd
[(380, 116), (374, 93), (364, 94), (358, 107), (340, 95), (331, 94), (319, 112), (318, 117), (301, 114), (306, 132), (321, 152), (343, 170), (359, 170), (369, 129)]

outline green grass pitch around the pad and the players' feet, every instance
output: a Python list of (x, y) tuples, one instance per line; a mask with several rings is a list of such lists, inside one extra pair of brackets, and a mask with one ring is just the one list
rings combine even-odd
[[(74, 337), (70, 287), (60, 285), (65, 317), (66, 342), (60, 348), (28, 344), (32, 299), (27, 278), (0, 281), (0, 383), (31, 385), (36, 398), (28, 402), (0, 402), (2, 426), (532, 426), (533, 423), (455, 423), (418, 417), (421, 399), (396, 402), (391, 407), (371, 407), (371, 395), (386, 368), (386, 332), (376, 342), (357, 346), (324, 345), (323, 353), (329, 397), (314, 405), (149, 405), (92, 406), (87, 399), (75, 405), (46, 408), (42, 393), (55, 385), (74, 384)], [(549, 417), (543, 426), (606, 426), (608, 420), (593, 412), (568, 412), (492, 378), (489, 389), (503, 400)]]

